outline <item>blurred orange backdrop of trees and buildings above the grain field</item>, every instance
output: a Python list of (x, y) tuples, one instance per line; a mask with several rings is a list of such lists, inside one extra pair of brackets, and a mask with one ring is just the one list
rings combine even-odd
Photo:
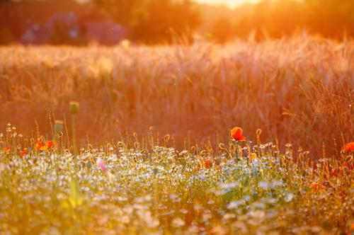
[(353, 0), (0, 0), (0, 44), (115, 45), (354, 35)]

